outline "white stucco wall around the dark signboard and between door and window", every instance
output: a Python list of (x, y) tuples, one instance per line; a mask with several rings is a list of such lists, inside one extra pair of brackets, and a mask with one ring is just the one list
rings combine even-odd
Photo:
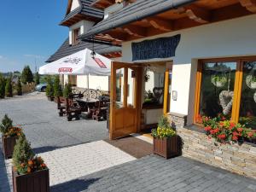
[[(194, 115), (195, 73), (197, 60), (214, 57), (256, 55), (256, 15), (197, 26), (164, 35), (143, 38), (154, 39), (181, 34), (176, 56), (150, 61), (171, 61), (172, 90), (177, 90), (177, 101), (171, 100), (171, 112), (188, 114), (188, 123)], [(131, 42), (123, 44), (124, 62), (131, 61)], [(139, 61), (143, 62), (143, 61)], [(144, 61), (148, 62), (148, 61)]]

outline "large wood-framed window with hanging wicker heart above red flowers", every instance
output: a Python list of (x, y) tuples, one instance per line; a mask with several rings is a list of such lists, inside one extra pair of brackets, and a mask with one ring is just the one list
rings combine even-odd
[(221, 113), (256, 130), (255, 57), (199, 61), (196, 79), (195, 117)]

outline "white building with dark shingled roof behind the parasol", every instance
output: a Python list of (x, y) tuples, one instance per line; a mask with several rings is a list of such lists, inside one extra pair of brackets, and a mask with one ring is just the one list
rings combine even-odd
[[(61, 26), (69, 27), (68, 38), (61, 44), (54, 55), (51, 55), (46, 62), (52, 62), (61, 59), (64, 56), (72, 55), (79, 50), (88, 48), (94, 49), (96, 53), (104, 55), (115, 61), (119, 61), (121, 57), (120, 46), (110, 46), (108, 44), (96, 44), (96, 42), (79, 41), (79, 35), (87, 32), (96, 22), (102, 20), (103, 11), (90, 7), (90, 0), (69, 0), (67, 5), (67, 13)], [(61, 83), (70, 82), (73, 86), (79, 88), (87, 88), (86, 75), (61, 75)], [(90, 89), (109, 90), (108, 76), (91, 76)]]

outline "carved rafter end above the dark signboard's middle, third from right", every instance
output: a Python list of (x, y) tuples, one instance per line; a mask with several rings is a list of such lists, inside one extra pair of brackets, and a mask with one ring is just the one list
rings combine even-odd
[(143, 20), (144, 22), (148, 22), (154, 28), (159, 29), (160, 31), (164, 32), (172, 32), (172, 20), (162, 20), (155, 17), (149, 17)]

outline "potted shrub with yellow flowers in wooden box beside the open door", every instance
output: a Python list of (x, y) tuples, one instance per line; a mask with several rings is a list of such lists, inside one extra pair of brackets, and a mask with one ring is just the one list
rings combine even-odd
[(180, 154), (177, 132), (172, 129), (169, 120), (162, 116), (157, 129), (152, 130), (154, 137), (154, 154), (169, 159)]

